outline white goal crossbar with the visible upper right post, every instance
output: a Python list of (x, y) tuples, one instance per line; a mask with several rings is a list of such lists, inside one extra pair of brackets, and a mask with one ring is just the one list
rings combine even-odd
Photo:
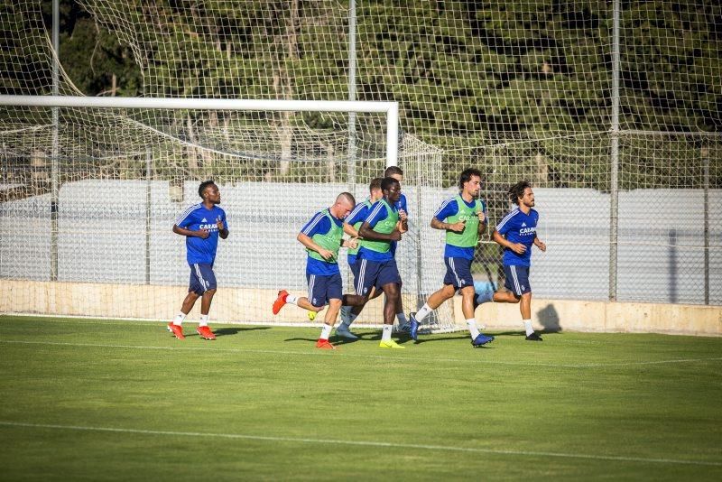
[(355, 112), (386, 115), (386, 165), (398, 163), (398, 102), (235, 98), (82, 97), (0, 95), (0, 106), (97, 107), (282, 112)]

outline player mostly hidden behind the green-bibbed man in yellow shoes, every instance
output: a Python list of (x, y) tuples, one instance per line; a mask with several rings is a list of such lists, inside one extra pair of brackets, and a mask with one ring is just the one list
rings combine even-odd
[[(364, 224), (364, 220), (368, 217), (368, 213), (375, 202), (384, 197), (384, 193), (381, 190), (382, 178), (374, 178), (371, 180), (371, 184), (368, 186), (369, 197), (363, 202), (356, 204), (356, 208), (351, 211), (351, 214), (344, 221), (344, 232), (348, 236), (358, 237), (358, 228)], [(351, 273), (354, 275), (354, 285), (358, 279), (358, 250), (361, 249), (363, 240), (358, 240), (358, 246), (356, 248), (350, 248), (347, 251), (348, 266), (351, 268)], [(373, 290), (373, 288), (372, 288)], [(373, 296), (373, 295), (372, 295)], [(342, 306), (341, 307), (341, 324), (336, 329), (336, 334), (341, 338), (347, 339), (358, 339), (358, 337), (351, 332), (351, 323), (356, 320), (358, 314), (364, 309), (364, 304), (359, 306)]]

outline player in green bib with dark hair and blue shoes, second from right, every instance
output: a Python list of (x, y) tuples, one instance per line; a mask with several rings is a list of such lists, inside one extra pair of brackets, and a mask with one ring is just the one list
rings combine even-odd
[(441, 303), (449, 300), (454, 293), (461, 292), (461, 311), (467, 319), (467, 327), (471, 334), (474, 347), (486, 345), (494, 340), (479, 333), (477, 320), (474, 318), (474, 278), (471, 275), (471, 262), (477, 247), (479, 235), (486, 230), (486, 207), (479, 199), (481, 192), (481, 172), (467, 169), (458, 178), (459, 193), (445, 200), (434, 217), (431, 227), (446, 231), (444, 247), (444, 263), (446, 276), (444, 285), (429, 297), (429, 300), (417, 313), (411, 313), (410, 333), (414, 340), (418, 338), (419, 323), (431, 311), (439, 308)]

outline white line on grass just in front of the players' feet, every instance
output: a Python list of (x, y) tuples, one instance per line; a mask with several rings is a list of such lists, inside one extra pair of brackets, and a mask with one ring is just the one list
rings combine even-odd
[[(19, 339), (0, 339), (0, 343), (19, 344), (19, 345), (49, 345), (58, 347), (91, 347), (91, 348), (131, 348), (131, 349), (147, 349), (147, 350), (169, 350), (169, 351), (202, 351), (207, 353), (267, 353), (273, 355), (301, 355), (306, 357), (325, 357), (329, 356), (329, 352), (313, 350), (313, 351), (292, 351), (292, 350), (265, 350), (265, 349), (242, 349), (242, 348), (194, 348), (194, 347), (153, 347), (148, 345), (111, 345), (101, 343), (69, 343), (61, 341), (30, 341)], [(497, 360), (468, 360), (461, 358), (439, 358), (439, 357), (386, 357), (383, 355), (361, 355), (357, 353), (338, 353), (334, 352), (332, 356), (352, 357), (352, 358), (374, 358), (385, 361), (412, 362), (419, 361), (435, 361), (449, 363), (469, 363), (476, 362), (487, 365), (509, 365), (509, 366), (550, 366), (553, 368), (604, 368), (607, 366), (641, 366), (641, 365), (663, 365), (671, 363), (696, 363), (708, 361), (722, 361), (722, 357), (714, 358), (674, 358), (670, 360), (654, 360), (639, 362), (614, 362), (614, 363), (585, 363), (585, 364), (560, 364), (560, 363), (527, 363), (527, 362), (505, 362)]]

